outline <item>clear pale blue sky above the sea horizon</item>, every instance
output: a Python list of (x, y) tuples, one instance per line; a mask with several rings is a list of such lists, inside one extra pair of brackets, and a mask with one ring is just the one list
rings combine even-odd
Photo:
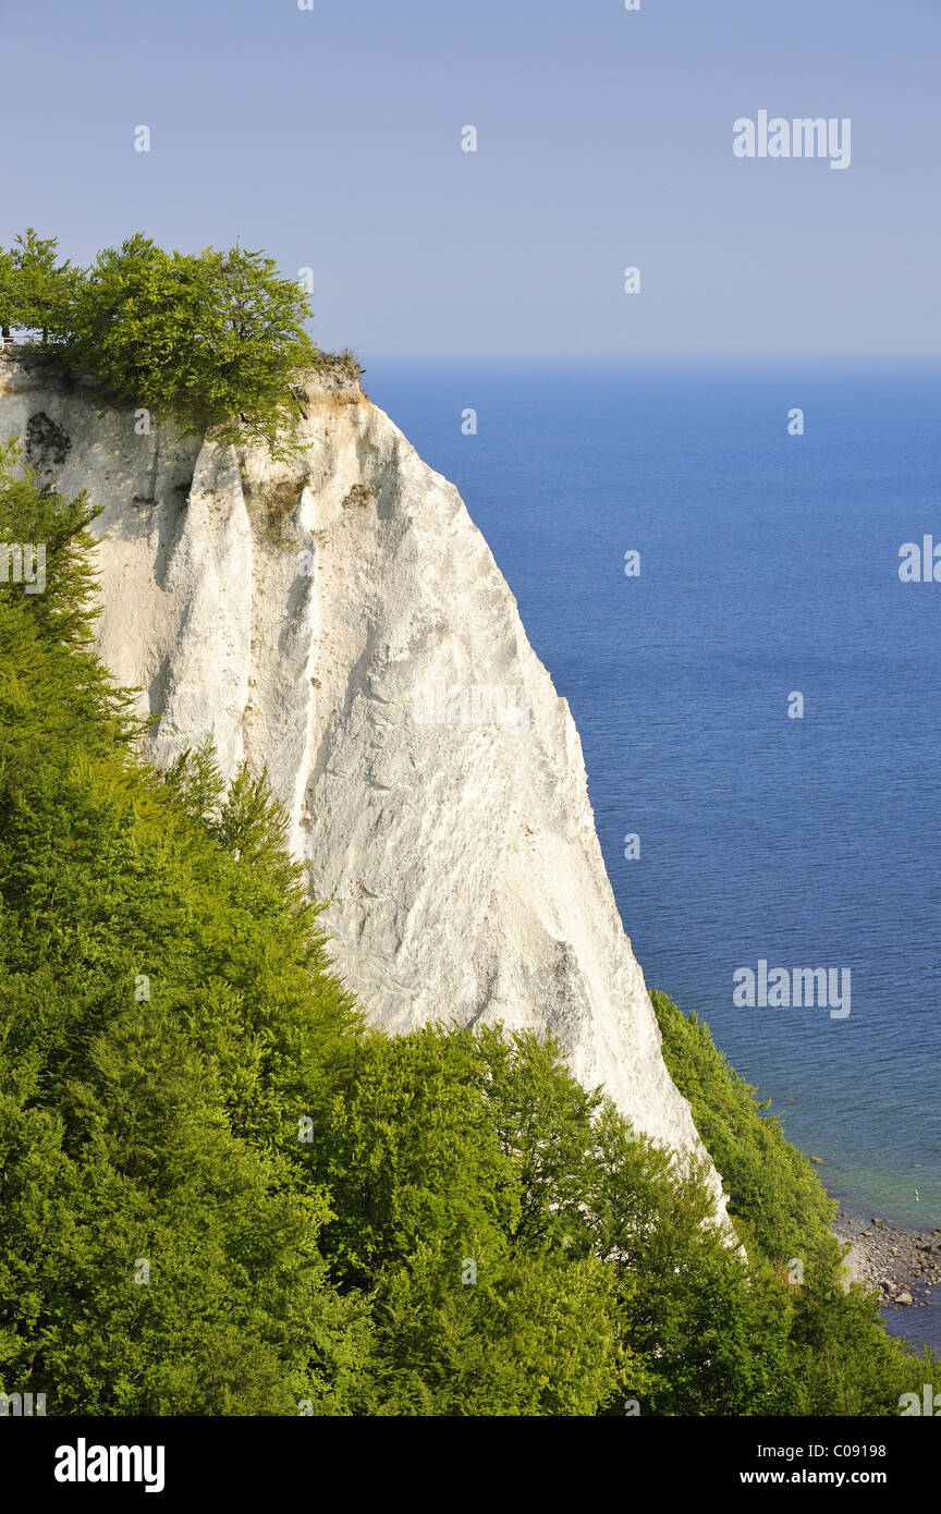
[(0, 0), (0, 242), (239, 238), (325, 347), (938, 351), (941, 0)]

